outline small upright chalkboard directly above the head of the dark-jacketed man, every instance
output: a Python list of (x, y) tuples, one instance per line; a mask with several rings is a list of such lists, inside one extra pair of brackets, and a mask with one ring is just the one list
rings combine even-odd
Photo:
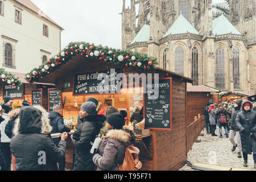
[(52, 111), (54, 105), (61, 106), (60, 89), (48, 89), (48, 111)]

